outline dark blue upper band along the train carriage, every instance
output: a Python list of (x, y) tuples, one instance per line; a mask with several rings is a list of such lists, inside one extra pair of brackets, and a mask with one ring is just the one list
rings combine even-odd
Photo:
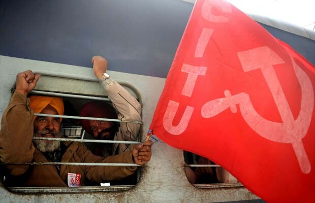
[[(193, 4), (180, 0), (0, 0), (0, 55), (166, 78)], [(265, 26), (315, 63), (315, 42)], [(30, 67), (31, 68), (31, 67)]]

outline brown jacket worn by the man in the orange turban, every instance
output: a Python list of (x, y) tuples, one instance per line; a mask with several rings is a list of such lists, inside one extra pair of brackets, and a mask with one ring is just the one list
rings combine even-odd
[[(6, 109), (0, 130), (0, 160), (4, 163), (48, 162), (34, 147), (33, 115), (29, 99), (14, 93)], [(62, 162), (133, 163), (130, 151), (102, 158), (93, 155), (82, 143), (64, 143), (68, 146)], [(74, 166), (62, 165), (58, 173), (54, 165), (6, 165), (9, 176), (18, 178), (16, 186), (67, 186), (68, 173), (81, 174), (81, 186), (86, 179), (105, 182), (127, 177), (136, 171), (133, 166)]]

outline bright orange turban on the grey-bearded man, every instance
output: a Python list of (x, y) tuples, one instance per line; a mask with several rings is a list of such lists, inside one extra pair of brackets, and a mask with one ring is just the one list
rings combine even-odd
[[(65, 108), (64, 108), (64, 101), (62, 101), (62, 98), (59, 97), (50, 97), (50, 96), (30, 96), (30, 103), (29, 108), (34, 110), (34, 113), (41, 113), (45, 107), (50, 105), (53, 107), (58, 115), (64, 115)], [(36, 116), (34, 116), (35, 120)], [(60, 118), (61, 122), (62, 118)]]

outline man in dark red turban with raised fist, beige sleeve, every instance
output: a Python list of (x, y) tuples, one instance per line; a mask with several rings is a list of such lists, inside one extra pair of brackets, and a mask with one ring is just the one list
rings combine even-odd
[[(137, 141), (141, 122), (141, 105), (126, 89), (114, 81), (106, 73), (107, 60), (102, 56), (92, 57), (94, 74), (99, 79), (101, 86), (106, 91), (112, 105), (105, 101), (90, 101), (80, 111), (83, 117), (98, 117), (119, 119), (123, 122), (80, 120), (85, 131), (98, 140)], [(117, 111), (117, 113), (116, 113)], [(130, 144), (94, 144), (91, 149), (93, 154), (108, 157), (131, 151)]]

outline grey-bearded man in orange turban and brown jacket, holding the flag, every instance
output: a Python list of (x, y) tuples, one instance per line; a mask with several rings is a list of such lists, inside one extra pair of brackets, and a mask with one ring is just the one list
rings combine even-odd
[[(95, 70), (94, 70), (95, 71)], [(35, 117), (35, 113), (63, 115), (61, 98), (30, 96), (40, 75), (31, 71), (17, 74), (16, 90), (2, 117), (0, 130), (0, 160), (8, 165), (8, 186), (74, 186), (69, 178), (76, 177), (76, 186), (87, 180), (105, 182), (117, 180), (136, 171), (133, 166), (77, 166), (77, 165), (10, 165), (25, 162), (93, 162), (145, 164), (151, 158), (151, 141), (135, 145), (132, 151), (103, 158), (93, 155), (82, 143), (34, 141), (33, 137), (60, 137), (60, 118)], [(78, 178), (79, 177), (79, 178)], [(77, 180), (78, 179), (78, 180)]]

